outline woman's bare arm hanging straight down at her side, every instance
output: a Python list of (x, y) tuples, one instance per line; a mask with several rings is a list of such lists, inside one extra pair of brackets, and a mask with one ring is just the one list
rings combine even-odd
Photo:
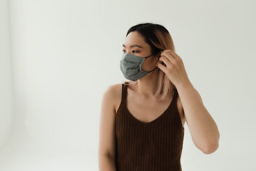
[(101, 100), (98, 144), (99, 171), (115, 171), (115, 85), (106, 89)]

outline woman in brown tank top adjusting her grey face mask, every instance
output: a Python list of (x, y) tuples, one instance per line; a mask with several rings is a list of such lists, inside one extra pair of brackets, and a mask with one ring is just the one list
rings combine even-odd
[(130, 81), (103, 95), (99, 170), (182, 170), (185, 122), (203, 153), (216, 151), (218, 127), (163, 26), (144, 23), (128, 30), (120, 70)]

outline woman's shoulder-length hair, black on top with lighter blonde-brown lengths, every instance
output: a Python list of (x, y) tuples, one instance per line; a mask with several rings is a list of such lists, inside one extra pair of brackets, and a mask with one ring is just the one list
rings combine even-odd
[[(151, 53), (157, 54), (165, 49), (175, 51), (173, 39), (170, 36), (167, 29), (163, 26), (153, 23), (142, 23), (131, 27), (126, 36), (133, 31), (137, 31), (144, 38), (144, 41), (150, 45)], [(124, 81), (123, 83), (129, 85), (133, 81)], [(156, 96), (160, 97), (162, 101), (166, 95), (170, 92), (173, 92), (176, 89), (175, 85), (169, 80), (166, 74), (162, 70), (158, 70), (158, 84)]]

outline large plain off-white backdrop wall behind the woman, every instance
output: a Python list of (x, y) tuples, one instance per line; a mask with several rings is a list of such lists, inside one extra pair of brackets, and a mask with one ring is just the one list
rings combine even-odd
[(121, 45), (142, 22), (170, 32), (221, 134), (205, 155), (185, 124), (182, 169), (256, 169), (255, 1), (9, 2), (9, 20), (0, 5), (0, 170), (98, 170), (102, 93), (124, 79)]

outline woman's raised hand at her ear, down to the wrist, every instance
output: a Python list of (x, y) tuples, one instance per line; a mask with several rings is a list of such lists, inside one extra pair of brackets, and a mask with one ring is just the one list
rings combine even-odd
[[(162, 65), (162, 61), (166, 67)], [(182, 59), (173, 50), (162, 51), (157, 66), (176, 87), (190, 83)]]

